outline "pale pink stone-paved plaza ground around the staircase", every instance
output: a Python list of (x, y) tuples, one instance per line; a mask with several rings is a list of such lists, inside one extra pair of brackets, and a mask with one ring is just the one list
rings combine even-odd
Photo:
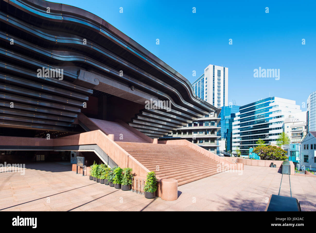
[[(219, 173), (178, 187), (179, 198), (146, 199), (70, 171), (58, 163), (28, 164), (25, 175), (0, 173), (0, 211), (264, 211), (278, 194), (277, 168), (244, 166), (239, 173)], [(291, 175), (292, 197), (316, 204), (316, 177)], [(290, 196), (289, 175), (280, 195)]]

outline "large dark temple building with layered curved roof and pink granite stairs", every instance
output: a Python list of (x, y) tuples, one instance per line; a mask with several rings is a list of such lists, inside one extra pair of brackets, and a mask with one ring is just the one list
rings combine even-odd
[[(135, 180), (156, 171), (158, 181), (177, 179), (178, 185), (226, 169), (218, 170), (219, 156), (187, 140), (158, 142), (218, 109), (136, 41), (70, 5), (1, 0), (0, 9), (1, 163), (22, 155), (29, 162), (55, 161), (76, 151), (85, 166), (97, 160), (131, 167)], [(225, 72), (216, 75), (225, 80)], [(216, 96), (216, 106), (222, 102)], [(207, 134), (215, 143), (216, 134)]]

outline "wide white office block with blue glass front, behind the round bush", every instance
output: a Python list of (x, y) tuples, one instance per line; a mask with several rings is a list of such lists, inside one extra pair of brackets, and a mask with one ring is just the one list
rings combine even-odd
[(300, 114), (300, 105), (294, 100), (269, 97), (241, 106), (233, 123), (233, 154), (239, 148), (241, 156), (248, 157), (249, 148), (254, 148), (260, 139), (276, 144), (283, 132), (284, 121)]

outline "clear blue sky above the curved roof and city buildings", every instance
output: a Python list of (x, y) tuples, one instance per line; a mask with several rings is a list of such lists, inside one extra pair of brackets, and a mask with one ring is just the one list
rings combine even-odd
[[(61, 1), (100, 16), (191, 83), (209, 64), (228, 67), (228, 102), (270, 92), (301, 105), (316, 90), (316, 1)], [(259, 66), (280, 69), (280, 79), (254, 78)]]

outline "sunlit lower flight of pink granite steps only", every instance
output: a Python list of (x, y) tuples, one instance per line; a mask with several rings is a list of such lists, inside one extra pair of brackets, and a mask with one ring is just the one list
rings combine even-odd
[(116, 142), (161, 179), (183, 185), (228, 170), (217, 161), (183, 145)]

